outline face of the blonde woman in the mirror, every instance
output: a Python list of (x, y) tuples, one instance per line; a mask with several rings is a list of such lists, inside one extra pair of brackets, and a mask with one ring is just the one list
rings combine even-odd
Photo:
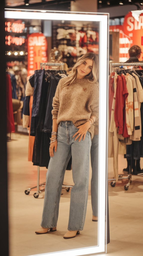
[(77, 68), (76, 78), (84, 78), (87, 76), (93, 69), (93, 60), (86, 59), (83, 63)]

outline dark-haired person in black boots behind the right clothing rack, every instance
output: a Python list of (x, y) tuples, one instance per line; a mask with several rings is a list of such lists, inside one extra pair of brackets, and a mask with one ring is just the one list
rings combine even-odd
[[(124, 63), (131, 63), (131, 62), (140, 62), (139, 58), (141, 55), (141, 48), (138, 45), (133, 45), (129, 50), (129, 59)], [(141, 61), (142, 62), (142, 61)], [(131, 173), (133, 169), (132, 174), (137, 174), (138, 172), (142, 172), (140, 168), (140, 159), (134, 159), (133, 152), (134, 152), (134, 143), (131, 145), (126, 145), (126, 154), (129, 153), (132, 154), (132, 156), (127, 156), (127, 168), (123, 169), (124, 173), (129, 173), (129, 166), (131, 166)]]

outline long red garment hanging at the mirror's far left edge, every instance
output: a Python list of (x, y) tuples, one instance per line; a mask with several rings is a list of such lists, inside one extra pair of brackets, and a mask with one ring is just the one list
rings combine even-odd
[(12, 89), (10, 75), (6, 73), (6, 112), (7, 112), (7, 133), (15, 132), (14, 115), (12, 108)]

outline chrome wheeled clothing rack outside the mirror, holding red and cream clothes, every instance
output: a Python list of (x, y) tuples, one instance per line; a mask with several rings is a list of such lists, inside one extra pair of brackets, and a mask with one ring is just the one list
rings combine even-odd
[[(112, 72), (112, 69), (114, 67), (124, 67), (124, 66), (128, 66), (128, 67), (135, 67), (135, 66), (143, 66), (143, 63), (140, 63), (140, 62), (131, 62), (131, 63), (110, 63), (110, 74)], [(142, 175), (143, 173), (141, 174), (138, 174), (138, 175)], [(127, 176), (127, 177), (123, 177), (123, 176)], [(125, 190), (128, 190), (128, 187), (129, 185), (131, 184), (132, 182), (132, 170), (131, 170), (131, 166), (129, 166), (129, 174), (119, 174), (118, 175), (118, 180), (122, 180), (122, 179), (128, 179), (128, 183), (124, 186), (124, 189)], [(112, 181), (110, 183), (111, 187), (115, 187), (116, 185), (116, 179), (112, 178), (112, 179), (108, 179), (108, 181)]]

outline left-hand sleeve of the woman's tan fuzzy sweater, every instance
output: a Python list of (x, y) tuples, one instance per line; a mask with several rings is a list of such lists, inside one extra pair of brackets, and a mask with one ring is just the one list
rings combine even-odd
[(52, 103), (52, 106), (53, 106), (53, 110), (52, 110), (52, 119), (58, 117), (58, 112), (59, 112), (59, 106), (60, 106), (60, 101), (59, 101), (59, 91), (60, 91), (60, 84), (61, 84), (61, 80), (59, 81), (58, 85), (57, 85), (57, 89), (56, 89), (56, 93), (55, 93), (55, 96), (53, 98), (53, 103)]

